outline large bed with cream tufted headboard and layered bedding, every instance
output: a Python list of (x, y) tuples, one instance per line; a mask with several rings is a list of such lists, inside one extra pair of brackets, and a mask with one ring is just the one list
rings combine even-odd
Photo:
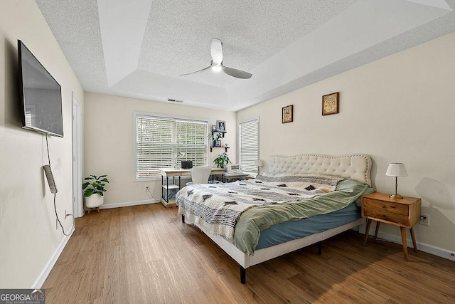
[(365, 154), (274, 155), (256, 179), (183, 187), (176, 204), (183, 223), (239, 263), (245, 283), (251, 266), (314, 243), (321, 254), (324, 239), (363, 226), (358, 205), (375, 191), (370, 171)]

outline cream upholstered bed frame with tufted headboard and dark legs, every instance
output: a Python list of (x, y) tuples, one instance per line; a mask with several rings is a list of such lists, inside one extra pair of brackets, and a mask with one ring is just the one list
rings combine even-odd
[[(332, 174), (342, 177), (357, 179), (371, 186), (370, 179), (371, 159), (365, 154), (329, 156), (319, 154), (300, 154), (291, 157), (274, 155), (267, 161), (267, 174), (295, 174), (295, 173), (320, 173)], [(187, 219), (188, 220), (188, 219)], [(182, 221), (185, 217), (182, 216)], [(188, 223), (191, 224), (191, 223)], [(196, 226), (198, 226), (196, 224)], [(351, 223), (338, 226), (333, 229), (311, 234), (303, 239), (295, 239), (286, 243), (281, 243), (268, 248), (255, 251), (253, 256), (243, 253), (232, 243), (226, 241), (221, 236), (208, 234), (207, 236), (220, 246), (228, 255), (240, 264), (240, 282), (246, 282), (246, 268), (268, 261), (277, 256), (295, 251), (297, 249), (318, 243), (319, 254), (321, 254), (321, 241), (340, 234), (343, 231), (360, 226), (359, 231), (365, 231), (365, 219), (357, 219)], [(362, 227), (363, 226), (363, 227)], [(203, 229), (198, 226), (199, 229)]]

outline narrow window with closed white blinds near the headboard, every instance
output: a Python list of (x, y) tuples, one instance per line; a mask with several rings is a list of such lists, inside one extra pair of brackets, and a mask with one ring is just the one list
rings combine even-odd
[(239, 123), (239, 164), (242, 171), (257, 174), (259, 157), (259, 118)]

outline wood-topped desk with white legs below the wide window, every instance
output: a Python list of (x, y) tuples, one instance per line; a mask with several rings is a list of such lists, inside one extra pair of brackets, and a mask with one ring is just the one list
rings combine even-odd
[[(191, 169), (176, 169), (176, 168), (163, 168), (159, 169), (161, 172), (161, 203), (164, 206), (176, 206), (175, 199), (169, 199), (169, 190), (176, 191), (176, 189), (181, 188), (180, 180), (181, 177), (191, 177)], [(215, 175), (220, 175), (225, 172), (223, 168), (212, 168), (210, 175), (213, 177)], [(164, 184), (164, 177), (166, 177), (166, 184)], [(169, 184), (169, 177), (172, 177), (172, 184)], [(178, 186), (175, 184), (175, 178), (178, 177)], [(166, 191), (165, 191), (166, 190)], [(177, 190), (178, 191), (178, 190)], [(166, 195), (164, 194), (166, 192)]]

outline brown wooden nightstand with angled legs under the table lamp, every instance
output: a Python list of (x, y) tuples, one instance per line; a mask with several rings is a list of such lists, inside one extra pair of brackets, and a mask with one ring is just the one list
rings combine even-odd
[(420, 220), (421, 204), (421, 199), (415, 197), (405, 196), (402, 199), (390, 199), (389, 194), (379, 192), (362, 196), (362, 216), (368, 219), (363, 246), (367, 244), (371, 221), (377, 221), (375, 239), (378, 237), (381, 222), (400, 226), (403, 253), (407, 261), (406, 228), (410, 229), (412, 245), (414, 246), (414, 251), (417, 252), (417, 244), (412, 226)]

